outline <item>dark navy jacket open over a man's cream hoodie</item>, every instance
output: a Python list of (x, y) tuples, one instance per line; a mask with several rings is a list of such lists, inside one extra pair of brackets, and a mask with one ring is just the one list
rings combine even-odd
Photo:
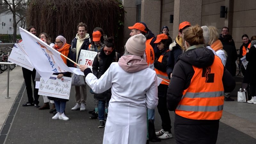
[[(73, 48), (76, 48), (77, 38), (75, 37), (71, 42), (71, 46), (70, 46), (70, 49), (69, 49), (70, 51), (68, 53), (68, 58), (70, 58), (71, 60), (73, 60), (75, 62), (78, 61), (81, 50), (87, 50), (88, 49), (89, 41), (90, 41), (90, 38), (87, 38), (87, 39), (84, 40), (84, 43), (82, 44), (81, 49), (78, 53), (78, 57), (76, 58), (76, 50), (74, 52), (71, 51)], [(67, 65), (70, 65), (69, 60), (67, 61)], [(74, 64), (72, 64), (72, 65), (74, 67)]]

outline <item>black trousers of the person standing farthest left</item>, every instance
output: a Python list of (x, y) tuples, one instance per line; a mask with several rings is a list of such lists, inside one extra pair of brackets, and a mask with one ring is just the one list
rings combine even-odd
[[(36, 86), (36, 82), (35, 82), (36, 69), (34, 68), (33, 71), (30, 71), (27, 68), (22, 67), (22, 73), (23, 73), (23, 77), (24, 77), (24, 80), (25, 80), (25, 84), (26, 84), (26, 90), (27, 90), (27, 94), (28, 94), (28, 102), (39, 104), (38, 89), (35, 88), (35, 86)], [(35, 98), (35, 100), (33, 99), (33, 92), (32, 92), (32, 86), (31, 86), (31, 76), (32, 76), (33, 84), (34, 84), (34, 98)]]

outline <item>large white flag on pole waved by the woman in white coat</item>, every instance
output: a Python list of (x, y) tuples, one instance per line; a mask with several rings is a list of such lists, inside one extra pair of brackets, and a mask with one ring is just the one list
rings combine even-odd
[(60, 52), (44, 43), (35, 35), (23, 28), (20, 28), (20, 35), (26, 47), (25, 53), (44, 80), (47, 80), (52, 73), (72, 72), (77, 75), (84, 75), (80, 69), (69, 68), (61, 59)]

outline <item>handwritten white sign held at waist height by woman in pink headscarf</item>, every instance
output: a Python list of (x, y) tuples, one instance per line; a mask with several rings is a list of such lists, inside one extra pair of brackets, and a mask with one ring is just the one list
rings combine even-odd
[(63, 76), (58, 79), (57, 75), (51, 75), (47, 81), (44, 81), (41, 77), (38, 94), (61, 99), (69, 99), (71, 80), (71, 77)]

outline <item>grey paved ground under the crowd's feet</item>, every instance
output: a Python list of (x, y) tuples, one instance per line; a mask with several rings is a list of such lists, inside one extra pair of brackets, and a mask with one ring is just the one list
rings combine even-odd
[[(20, 70), (20, 72), (18, 72)], [(12, 73), (12, 72), (11, 72)], [(13, 70), (14, 73), (14, 70)], [(17, 68), (17, 72), (13, 76), (18, 77), (18, 74), (22, 71), (21, 68)], [(0, 74), (0, 79), (2, 78)], [(23, 80), (23, 77), (21, 77)], [(239, 78), (236, 78), (240, 81)], [(14, 83), (13, 83), (14, 84)], [(237, 88), (241, 84), (237, 83)], [(237, 88), (231, 93), (232, 98), (236, 97)], [(70, 100), (66, 105), (66, 115), (70, 118), (69, 121), (63, 120), (52, 120), (52, 114), (49, 114), (49, 110), (38, 110), (34, 106), (22, 107), (23, 103), (27, 102), (27, 93), (24, 85), (20, 84), (19, 88), (15, 90), (16, 95), (12, 96), (12, 102), (8, 103), (8, 107), (0, 107), (0, 111), (8, 111), (5, 117), (4, 126), (10, 126), (10, 129), (6, 132), (5, 143), (84, 143), (84, 144), (100, 144), (103, 140), (104, 128), (98, 128), (99, 120), (91, 120), (88, 111), (94, 108), (92, 94), (87, 95), (86, 111), (71, 111), (74, 106), (74, 88), (71, 89)], [(19, 91), (20, 90), (20, 91)], [(14, 90), (12, 90), (14, 92)], [(20, 94), (19, 94), (20, 93)], [(18, 94), (18, 95), (17, 95)], [(16, 98), (17, 96), (17, 98)], [(16, 98), (16, 99), (15, 99)], [(14, 100), (15, 99), (15, 100)], [(2, 98), (0, 99), (2, 101)], [(2, 105), (3, 103), (0, 104)], [(39, 105), (43, 105), (42, 96), (39, 97)], [(17, 107), (17, 112), (14, 112)], [(11, 109), (12, 108), (12, 109)], [(255, 125), (256, 118), (253, 112), (256, 108), (256, 104), (238, 103), (236, 101), (228, 101), (224, 104), (223, 116), (220, 120), (218, 144), (244, 144), (244, 143), (255, 143)], [(11, 109), (11, 110), (10, 110)], [(172, 121), (172, 133), (174, 113), (169, 112)], [(15, 116), (14, 116), (15, 115)], [(2, 116), (1, 116), (2, 117)], [(10, 119), (12, 121), (10, 121)], [(4, 137), (4, 127), (0, 133), (0, 144), (1, 139)], [(156, 109), (155, 119), (156, 131), (161, 129), (161, 119)], [(151, 143), (151, 142), (150, 142)], [(156, 144), (170, 144), (175, 143), (175, 139), (162, 140), (156, 142)]]

